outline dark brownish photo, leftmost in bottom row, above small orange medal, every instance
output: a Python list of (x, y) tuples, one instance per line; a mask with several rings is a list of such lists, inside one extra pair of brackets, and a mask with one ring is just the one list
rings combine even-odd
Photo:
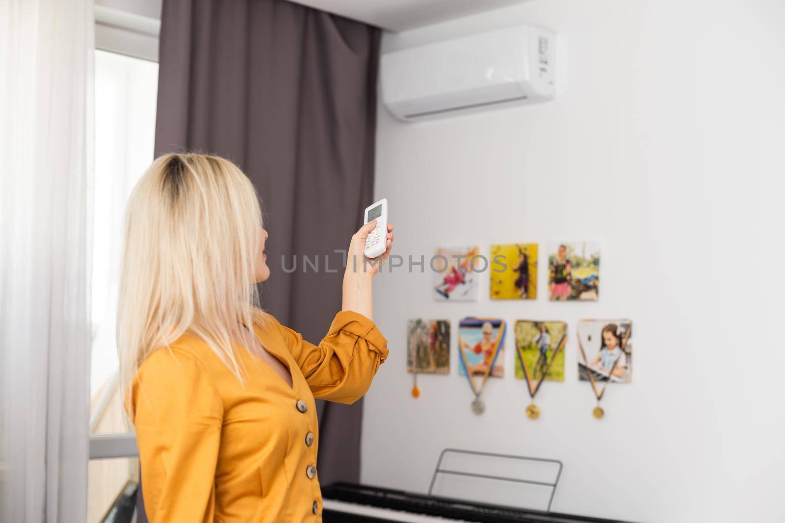
[(450, 373), (450, 322), (409, 320), (407, 371), (418, 374)]

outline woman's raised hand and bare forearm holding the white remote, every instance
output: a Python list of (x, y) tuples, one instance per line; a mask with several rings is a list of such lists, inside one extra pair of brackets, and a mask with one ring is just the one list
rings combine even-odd
[(392, 249), (392, 225), (387, 224), (387, 249), (373, 260), (365, 257), (365, 238), (376, 227), (376, 220), (360, 227), (352, 236), (349, 252), (346, 255), (346, 272), (343, 282), (343, 303), (341, 311), (355, 311), (366, 318), (374, 319), (374, 274), (382, 268)]

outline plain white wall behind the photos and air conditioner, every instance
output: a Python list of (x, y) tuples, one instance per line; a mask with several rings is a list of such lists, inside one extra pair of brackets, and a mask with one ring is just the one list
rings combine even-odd
[[(363, 482), (424, 492), (454, 446), (562, 459), (555, 511), (785, 520), (785, 5), (543, 0), (383, 47), (517, 23), (557, 31), (557, 100), (415, 124), (380, 107), (376, 193), (403, 256), (599, 239), (601, 300), (548, 303), (544, 255), (534, 302), (491, 302), (487, 273), (478, 303), (434, 302), (431, 274), (383, 274), (375, 318), (391, 353), (366, 398)], [(513, 336), (485, 414), (470, 411), (455, 349), (466, 315), (568, 321), (566, 378), (543, 385), (540, 419), (524, 414)], [(418, 316), (452, 321), (453, 354), (449, 376), (419, 377), (415, 400), (405, 335)], [(608, 389), (598, 421), (575, 325), (619, 316), (634, 321), (634, 383)]]

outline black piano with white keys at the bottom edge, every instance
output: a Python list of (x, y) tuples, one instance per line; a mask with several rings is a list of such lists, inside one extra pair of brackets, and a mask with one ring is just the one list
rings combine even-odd
[(336, 483), (322, 490), (324, 523), (623, 523), (618, 520), (558, 514), (413, 494), (390, 488)]

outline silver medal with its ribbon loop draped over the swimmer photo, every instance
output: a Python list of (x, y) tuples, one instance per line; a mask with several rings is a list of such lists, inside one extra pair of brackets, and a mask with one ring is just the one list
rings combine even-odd
[[(496, 332), (494, 332), (496, 331)], [(472, 412), (477, 415), (485, 412), (485, 403), (480, 399), (488, 376), (496, 365), (498, 355), (503, 350), (506, 323), (504, 320), (491, 318), (464, 318), (458, 329), (458, 354), (461, 356), (463, 372), (472, 388), (474, 400)], [(476, 343), (474, 342), (478, 338)], [(470, 340), (470, 338), (472, 338)], [(469, 361), (471, 358), (471, 361)], [(480, 384), (475, 383), (473, 375), (482, 374)]]

